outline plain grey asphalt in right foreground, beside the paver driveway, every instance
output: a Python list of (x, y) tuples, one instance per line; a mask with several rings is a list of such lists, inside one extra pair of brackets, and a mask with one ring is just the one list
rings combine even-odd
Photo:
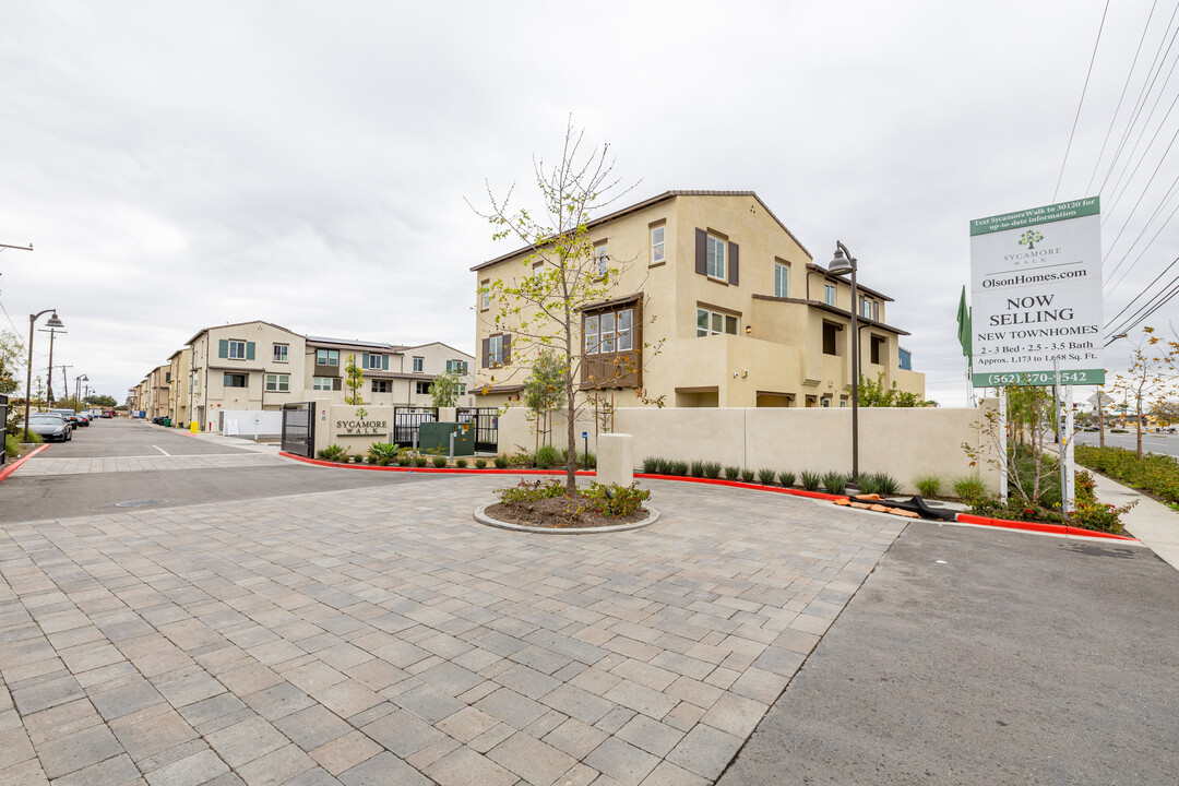
[(719, 784), (1173, 785), (1177, 597), (1141, 547), (914, 523)]

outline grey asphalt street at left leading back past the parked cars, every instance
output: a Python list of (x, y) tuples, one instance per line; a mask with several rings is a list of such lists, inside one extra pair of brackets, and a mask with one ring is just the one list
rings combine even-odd
[[(226, 448), (177, 431), (154, 429), (126, 420), (97, 421), (78, 429), (66, 443), (53, 443), (29, 462), (55, 458), (114, 458), (120, 456), (189, 456), (216, 460), (256, 455)], [(440, 476), (407, 473), (365, 473), (325, 469), (289, 458), (259, 456), (257, 465), (232, 465), (162, 471), (119, 471), (70, 475), (31, 475), (17, 471), (0, 483), (0, 522), (37, 521), (113, 513), (119, 502), (156, 501), (174, 507), (334, 491), (396, 483), (434, 482)]]

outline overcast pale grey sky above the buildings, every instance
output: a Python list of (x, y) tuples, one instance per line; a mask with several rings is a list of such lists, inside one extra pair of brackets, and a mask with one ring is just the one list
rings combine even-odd
[(843, 240), (962, 405), (971, 218), (1100, 192), (1107, 317), (1179, 255), (1179, 19), (1109, 6), (1058, 191), (1105, 0), (0, 0), (0, 243), (35, 247), (0, 326), (59, 309), (54, 363), (120, 402), (231, 322), (472, 351), (468, 269), (511, 247), (465, 198), (527, 196), (572, 114), (634, 202), (753, 190)]

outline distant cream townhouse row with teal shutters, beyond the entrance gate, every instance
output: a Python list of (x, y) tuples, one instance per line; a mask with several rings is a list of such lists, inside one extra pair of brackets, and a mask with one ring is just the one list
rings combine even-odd
[(459, 405), (474, 405), (475, 358), (440, 342), (407, 346), (304, 336), (253, 321), (198, 331), (131, 389), (132, 408), (149, 418), (171, 417), (178, 425), (195, 420), (202, 430), (219, 430), (225, 411), (281, 410), (316, 398), (342, 404), (349, 357), (363, 370), (365, 403), (430, 407), (432, 381), (454, 371)]

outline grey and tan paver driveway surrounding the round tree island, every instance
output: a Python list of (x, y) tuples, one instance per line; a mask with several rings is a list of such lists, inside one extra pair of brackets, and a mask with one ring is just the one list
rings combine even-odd
[(711, 782), (904, 527), (666, 482), (476, 524), (509, 482), (0, 524), (0, 784)]

